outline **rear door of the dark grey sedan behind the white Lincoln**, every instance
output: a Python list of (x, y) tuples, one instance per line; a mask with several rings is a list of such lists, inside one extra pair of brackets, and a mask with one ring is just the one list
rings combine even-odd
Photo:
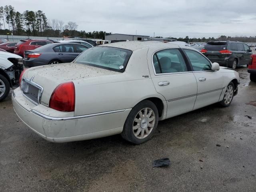
[(77, 53), (75, 52), (73, 44), (62, 44), (59, 45), (60, 49), (58, 49), (58, 56), (60, 60), (64, 63), (72, 62), (76, 57)]

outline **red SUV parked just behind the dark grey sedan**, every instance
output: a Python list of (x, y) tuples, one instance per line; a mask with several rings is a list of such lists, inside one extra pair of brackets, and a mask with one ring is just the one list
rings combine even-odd
[(25, 50), (33, 50), (50, 43), (52, 43), (50, 40), (45, 40), (45, 39), (20, 40), (20, 42), (18, 42), (15, 45), (14, 53), (23, 57)]

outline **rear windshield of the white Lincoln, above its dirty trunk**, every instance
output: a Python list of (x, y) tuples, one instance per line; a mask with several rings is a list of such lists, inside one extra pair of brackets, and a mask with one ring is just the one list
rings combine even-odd
[(80, 54), (75, 63), (124, 72), (132, 51), (113, 47), (93, 47)]

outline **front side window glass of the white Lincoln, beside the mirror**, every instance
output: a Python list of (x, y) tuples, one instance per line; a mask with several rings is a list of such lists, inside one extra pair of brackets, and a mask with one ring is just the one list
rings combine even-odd
[(208, 59), (206, 59), (202, 54), (184, 49), (184, 52), (188, 56), (194, 71), (208, 71), (211, 70), (212, 65)]

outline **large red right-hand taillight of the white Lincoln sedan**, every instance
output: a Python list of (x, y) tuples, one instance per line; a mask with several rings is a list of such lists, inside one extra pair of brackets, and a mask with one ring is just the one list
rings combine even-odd
[(75, 100), (74, 83), (62, 83), (52, 92), (49, 107), (58, 111), (72, 112), (75, 110)]

